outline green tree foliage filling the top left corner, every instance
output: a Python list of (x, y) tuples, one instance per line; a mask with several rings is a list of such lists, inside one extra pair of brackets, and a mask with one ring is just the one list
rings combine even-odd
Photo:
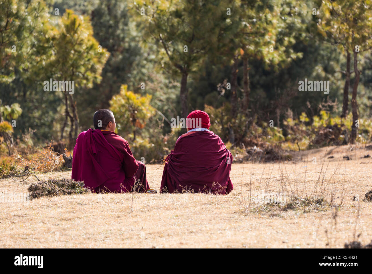
[(43, 1), (0, 2), (0, 83), (10, 84), (17, 72), (25, 78), (32, 76), (39, 48), (36, 43), (47, 20)]

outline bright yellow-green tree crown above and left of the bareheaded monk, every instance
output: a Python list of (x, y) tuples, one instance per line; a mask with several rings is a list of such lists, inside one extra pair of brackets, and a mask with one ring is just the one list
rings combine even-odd
[(77, 87), (92, 87), (100, 81), (109, 53), (105, 48), (99, 50), (90, 19), (66, 10), (57, 29), (47, 69), (57, 79), (75, 81)]

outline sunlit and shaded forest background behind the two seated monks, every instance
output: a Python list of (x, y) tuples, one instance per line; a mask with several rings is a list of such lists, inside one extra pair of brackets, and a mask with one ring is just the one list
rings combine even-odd
[[(4, 0), (1, 153), (71, 151), (99, 108), (147, 163), (186, 132), (170, 120), (195, 109), (242, 158), (369, 143), (371, 48), (371, 1)], [(305, 78), (329, 93), (299, 91)], [(49, 79), (74, 93), (45, 91)]]

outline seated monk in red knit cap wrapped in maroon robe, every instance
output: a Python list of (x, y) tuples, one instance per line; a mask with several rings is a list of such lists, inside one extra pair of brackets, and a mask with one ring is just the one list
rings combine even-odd
[(204, 111), (195, 110), (187, 116), (187, 133), (178, 138), (166, 158), (160, 192), (231, 192), (232, 155), (209, 126)]

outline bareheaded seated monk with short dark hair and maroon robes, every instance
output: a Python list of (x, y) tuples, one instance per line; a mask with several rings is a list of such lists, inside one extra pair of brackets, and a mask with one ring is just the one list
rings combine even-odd
[(92, 192), (151, 192), (146, 167), (133, 157), (128, 142), (117, 135), (112, 111), (94, 113), (95, 129), (81, 132), (73, 153), (72, 175)]

